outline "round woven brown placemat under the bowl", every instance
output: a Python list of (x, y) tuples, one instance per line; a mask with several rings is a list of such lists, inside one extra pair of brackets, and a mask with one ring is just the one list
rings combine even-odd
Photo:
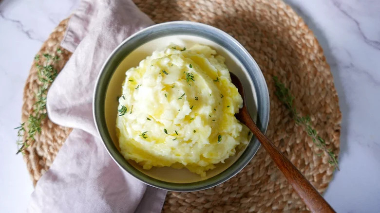
[[(280, 0), (134, 0), (156, 23), (190, 20), (215, 26), (236, 38), (259, 64), (270, 95), (270, 120), (266, 135), (281, 149), (320, 193), (327, 188), (334, 168), (326, 155), (319, 156), (301, 126), (274, 95), (272, 76), (290, 88), (294, 105), (311, 121), (336, 155), (339, 153), (341, 113), (330, 68), (313, 33), (288, 5)], [(41, 53), (54, 53), (68, 19), (44, 42)], [(60, 71), (71, 53), (63, 51)], [(22, 121), (26, 121), (38, 88), (34, 66), (24, 89)], [(43, 121), (42, 132), (27, 148), (27, 168), (36, 184), (50, 167), (71, 129)], [(208, 190), (169, 192), (163, 212), (307, 212), (301, 199), (261, 148), (235, 177)]]

